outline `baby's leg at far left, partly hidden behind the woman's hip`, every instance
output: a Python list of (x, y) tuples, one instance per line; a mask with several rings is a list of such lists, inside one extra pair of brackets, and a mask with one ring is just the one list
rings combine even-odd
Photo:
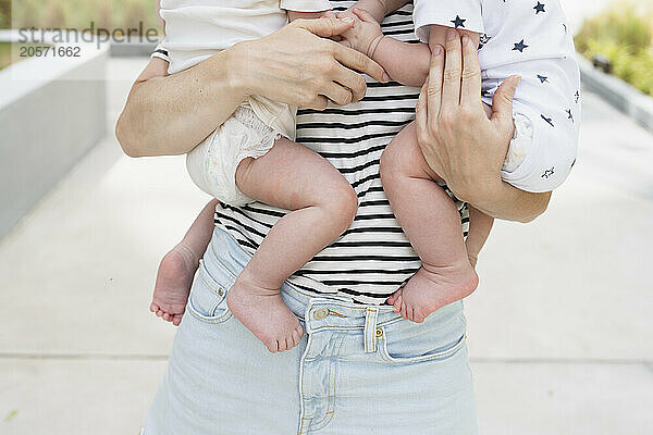
[(209, 201), (182, 241), (172, 248), (159, 264), (150, 311), (175, 326), (182, 322), (193, 276), (211, 240), (217, 204), (217, 199)]

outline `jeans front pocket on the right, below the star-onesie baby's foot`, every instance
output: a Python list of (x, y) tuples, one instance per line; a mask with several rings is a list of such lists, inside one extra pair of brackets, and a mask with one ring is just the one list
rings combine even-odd
[(385, 330), (380, 337), (379, 352), (392, 363), (444, 361), (464, 348), (467, 338), (463, 316), (445, 325), (398, 322)]

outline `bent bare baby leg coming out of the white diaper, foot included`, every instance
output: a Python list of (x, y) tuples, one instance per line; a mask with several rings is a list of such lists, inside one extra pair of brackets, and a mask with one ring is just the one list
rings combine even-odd
[(236, 185), (249, 198), (292, 210), (270, 229), (226, 299), (270, 351), (287, 350), (303, 331), (280, 287), (349, 227), (358, 198), (331, 163), (285, 138), (266, 156), (241, 162)]

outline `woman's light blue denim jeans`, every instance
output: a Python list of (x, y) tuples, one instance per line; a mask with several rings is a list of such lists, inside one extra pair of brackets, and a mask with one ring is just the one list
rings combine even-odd
[(286, 284), (305, 334), (270, 353), (225, 302), (248, 260), (215, 229), (145, 435), (477, 434), (461, 302), (416, 324)]

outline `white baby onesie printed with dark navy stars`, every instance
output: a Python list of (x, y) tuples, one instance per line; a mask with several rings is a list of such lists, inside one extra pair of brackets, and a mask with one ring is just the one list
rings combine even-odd
[(558, 0), (415, 0), (417, 37), (429, 25), (481, 35), (482, 100), (520, 75), (514, 100), (515, 137), (502, 178), (533, 192), (558, 187), (576, 162), (580, 75), (574, 40)]

